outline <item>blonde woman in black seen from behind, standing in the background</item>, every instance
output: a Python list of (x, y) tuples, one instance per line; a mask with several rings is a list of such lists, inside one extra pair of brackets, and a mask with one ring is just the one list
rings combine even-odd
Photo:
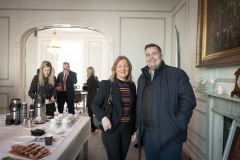
[(95, 70), (93, 67), (87, 68), (87, 107), (88, 115), (91, 117), (91, 131), (94, 132), (97, 128), (93, 124), (93, 111), (91, 108), (92, 101), (97, 93), (98, 82), (97, 77), (95, 76)]

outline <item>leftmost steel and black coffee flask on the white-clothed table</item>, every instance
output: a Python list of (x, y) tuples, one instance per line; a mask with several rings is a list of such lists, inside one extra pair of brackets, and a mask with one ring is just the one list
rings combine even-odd
[(10, 111), (10, 119), (14, 125), (21, 124), (20, 121), (20, 108), (21, 108), (21, 99), (14, 98), (11, 100), (11, 104), (9, 106)]

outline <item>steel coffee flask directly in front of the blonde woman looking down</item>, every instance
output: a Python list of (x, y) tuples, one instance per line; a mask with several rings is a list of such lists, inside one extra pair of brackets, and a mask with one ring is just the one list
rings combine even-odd
[(41, 124), (46, 122), (46, 105), (45, 105), (45, 96), (40, 94), (37, 95), (34, 101), (34, 116), (35, 123)]

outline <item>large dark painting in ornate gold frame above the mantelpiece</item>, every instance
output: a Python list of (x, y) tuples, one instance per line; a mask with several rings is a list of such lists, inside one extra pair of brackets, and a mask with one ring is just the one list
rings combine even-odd
[(198, 0), (197, 68), (240, 64), (240, 6), (235, 3)]

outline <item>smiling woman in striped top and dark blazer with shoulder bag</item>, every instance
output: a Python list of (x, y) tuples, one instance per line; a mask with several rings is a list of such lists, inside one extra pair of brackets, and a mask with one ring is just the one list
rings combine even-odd
[[(102, 106), (106, 104), (112, 86), (111, 119), (108, 119)], [(92, 102), (92, 110), (102, 121), (102, 141), (109, 160), (126, 159), (129, 145), (136, 139), (135, 102), (136, 86), (132, 80), (132, 65), (127, 57), (119, 56), (113, 66), (109, 80), (100, 83)]]

